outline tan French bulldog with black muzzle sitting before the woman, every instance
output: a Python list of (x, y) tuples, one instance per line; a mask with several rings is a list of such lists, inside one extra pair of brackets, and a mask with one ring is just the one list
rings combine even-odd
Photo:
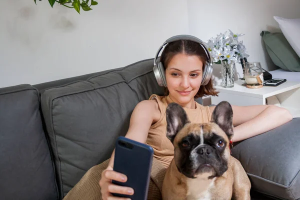
[(211, 117), (208, 123), (191, 123), (180, 105), (168, 104), (166, 136), (174, 145), (174, 158), (162, 183), (163, 200), (250, 200), (250, 180), (230, 155), (231, 105), (218, 103)]

